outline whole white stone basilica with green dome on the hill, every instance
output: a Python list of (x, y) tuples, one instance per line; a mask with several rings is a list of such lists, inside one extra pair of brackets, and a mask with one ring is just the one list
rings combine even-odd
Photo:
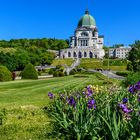
[(105, 55), (104, 36), (99, 36), (95, 19), (86, 10), (81, 17), (75, 30), (74, 36), (70, 37), (68, 49), (60, 51), (60, 58), (100, 58)]

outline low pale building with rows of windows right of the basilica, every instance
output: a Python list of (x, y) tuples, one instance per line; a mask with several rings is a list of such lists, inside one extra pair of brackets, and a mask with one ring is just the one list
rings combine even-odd
[(131, 47), (119, 47), (109, 49), (109, 57), (125, 59)]

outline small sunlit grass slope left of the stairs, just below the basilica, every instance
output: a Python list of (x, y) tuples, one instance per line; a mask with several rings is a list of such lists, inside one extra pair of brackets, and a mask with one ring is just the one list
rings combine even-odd
[(74, 62), (73, 59), (55, 59), (52, 63), (52, 66), (57, 66), (57, 65), (64, 65), (66, 64), (67, 66), (71, 66), (72, 63)]

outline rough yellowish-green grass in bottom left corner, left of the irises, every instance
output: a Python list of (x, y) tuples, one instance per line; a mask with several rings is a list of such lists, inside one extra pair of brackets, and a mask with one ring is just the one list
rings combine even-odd
[(3, 125), (0, 125), (1, 140), (45, 140), (49, 136), (51, 127), (46, 122), (50, 121), (42, 109), (37, 106), (25, 105), (18, 108), (10, 107), (2, 113)]

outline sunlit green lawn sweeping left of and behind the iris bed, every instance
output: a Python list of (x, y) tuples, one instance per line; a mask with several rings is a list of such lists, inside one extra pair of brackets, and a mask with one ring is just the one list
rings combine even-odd
[[(44, 113), (48, 92), (64, 93), (89, 84), (102, 85), (107, 77), (89, 73), (45, 80), (19, 80), (0, 83), (1, 140), (49, 139), (50, 119)], [(110, 79), (111, 82), (118, 82)], [(57, 94), (58, 95), (58, 94)]]

